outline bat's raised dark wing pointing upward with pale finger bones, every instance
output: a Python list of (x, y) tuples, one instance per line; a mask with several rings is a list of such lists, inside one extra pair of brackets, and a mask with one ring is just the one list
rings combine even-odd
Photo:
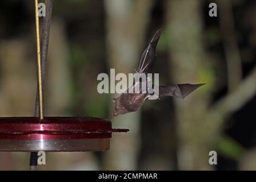
[(161, 29), (159, 29), (155, 35), (153, 36), (153, 39), (150, 41), (149, 46), (145, 49), (141, 56), (141, 61), (139, 62), (139, 69), (138, 73), (150, 73), (154, 61), (155, 61), (155, 48), (157, 47), (158, 40), (161, 35)]

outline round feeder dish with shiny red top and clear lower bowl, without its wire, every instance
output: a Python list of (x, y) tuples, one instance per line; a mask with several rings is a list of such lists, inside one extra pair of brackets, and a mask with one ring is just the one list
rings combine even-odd
[(113, 132), (127, 131), (99, 118), (0, 118), (0, 151), (104, 151)]

